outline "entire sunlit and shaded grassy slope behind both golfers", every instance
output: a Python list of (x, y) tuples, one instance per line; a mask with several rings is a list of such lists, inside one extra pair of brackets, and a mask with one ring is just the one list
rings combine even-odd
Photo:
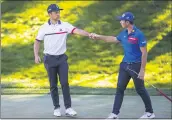
[[(6, 1), (2, 9), (17, 2)], [(25, 2), (20, 7), (4, 10), (1, 26), (2, 88), (48, 89), (43, 64), (35, 65), (33, 43), (41, 24), (48, 20), (51, 2)], [(61, 1), (61, 20), (78, 28), (104, 35), (117, 35), (121, 30), (114, 16), (131, 11), (135, 24), (148, 40), (148, 63), (145, 79), (160, 88), (171, 88), (171, 2), (170, 1)], [(2, 2), (3, 4), (3, 2)], [(13, 4), (13, 5), (12, 5)], [(121, 45), (93, 41), (87, 37), (69, 36), (69, 82), (71, 86), (116, 88)], [(40, 49), (42, 57), (43, 44)], [(130, 81), (128, 88), (133, 88)], [(151, 86), (146, 84), (146, 87)], [(29, 92), (29, 91), (28, 91)]]

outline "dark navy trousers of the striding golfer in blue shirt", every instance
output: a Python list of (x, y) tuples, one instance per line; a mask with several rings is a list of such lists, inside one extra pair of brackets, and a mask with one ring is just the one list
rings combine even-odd
[(130, 81), (130, 78), (133, 79), (135, 89), (144, 102), (144, 105), (146, 108), (145, 112), (153, 113), (150, 96), (149, 96), (147, 90), (145, 89), (144, 80), (137, 78), (138, 77), (137, 74), (135, 74), (134, 72), (127, 69), (127, 68), (129, 68), (129, 69), (132, 69), (132, 70), (136, 71), (137, 73), (139, 73), (140, 67), (141, 67), (141, 63), (122, 62), (120, 64), (118, 83), (117, 83), (117, 91), (116, 91), (116, 95), (115, 95), (112, 113), (117, 114), (117, 115), (119, 114), (119, 110), (120, 110), (122, 102), (123, 102), (124, 91), (127, 87), (128, 82)]

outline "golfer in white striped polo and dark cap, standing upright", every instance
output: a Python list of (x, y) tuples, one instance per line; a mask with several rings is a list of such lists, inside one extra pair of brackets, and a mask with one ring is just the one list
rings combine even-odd
[(71, 108), (71, 97), (68, 84), (68, 63), (66, 52), (66, 39), (68, 34), (89, 36), (89, 33), (78, 29), (68, 22), (60, 20), (60, 9), (56, 4), (47, 8), (50, 19), (43, 24), (38, 32), (34, 43), (35, 63), (40, 63), (38, 55), (40, 42), (44, 41), (44, 65), (50, 82), (51, 97), (54, 105), (54, 115), (61, 116), (59, 95), (57, 88), (57, 75), (59, 76), (66, 114), (74, 116), (77, 112)]

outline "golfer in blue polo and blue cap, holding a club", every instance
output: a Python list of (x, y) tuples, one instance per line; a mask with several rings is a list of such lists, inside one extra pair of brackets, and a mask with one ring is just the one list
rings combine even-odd
[[(102, 39), (105, 42), (121, 43), (124, 49), (124, 58), (120, 63), (117, 91), (114, 100), (112, 113), (108, 119), (117, 119), (123, 102), (124, 91), (128, 82), (132, 78), (135, 89), (142, 98), (145, 105), (145, 113), (141, 118), (154, 118), (150, 96), (144, 86), (145, 66), (147, 63), (147, 41), (142, 31), (134, 25), (134, 15), (125, 12), (118, 16), (121, 26), (124, 28), (116, 37), (104, 36), (95, 33), (90, 34), (90, 38)], [(133, 71), (139, 73), (135, 74)]]

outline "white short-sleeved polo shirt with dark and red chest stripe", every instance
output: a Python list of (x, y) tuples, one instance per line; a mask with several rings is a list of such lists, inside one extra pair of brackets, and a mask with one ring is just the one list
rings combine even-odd
[(61, 55), (66, 52), (67, 35), (76, 29), (68, 22), (58, 21), (52, 24), (50, 20), (43, 24), (36, 37), (36, 40), (44, 40), (44, 54)]

